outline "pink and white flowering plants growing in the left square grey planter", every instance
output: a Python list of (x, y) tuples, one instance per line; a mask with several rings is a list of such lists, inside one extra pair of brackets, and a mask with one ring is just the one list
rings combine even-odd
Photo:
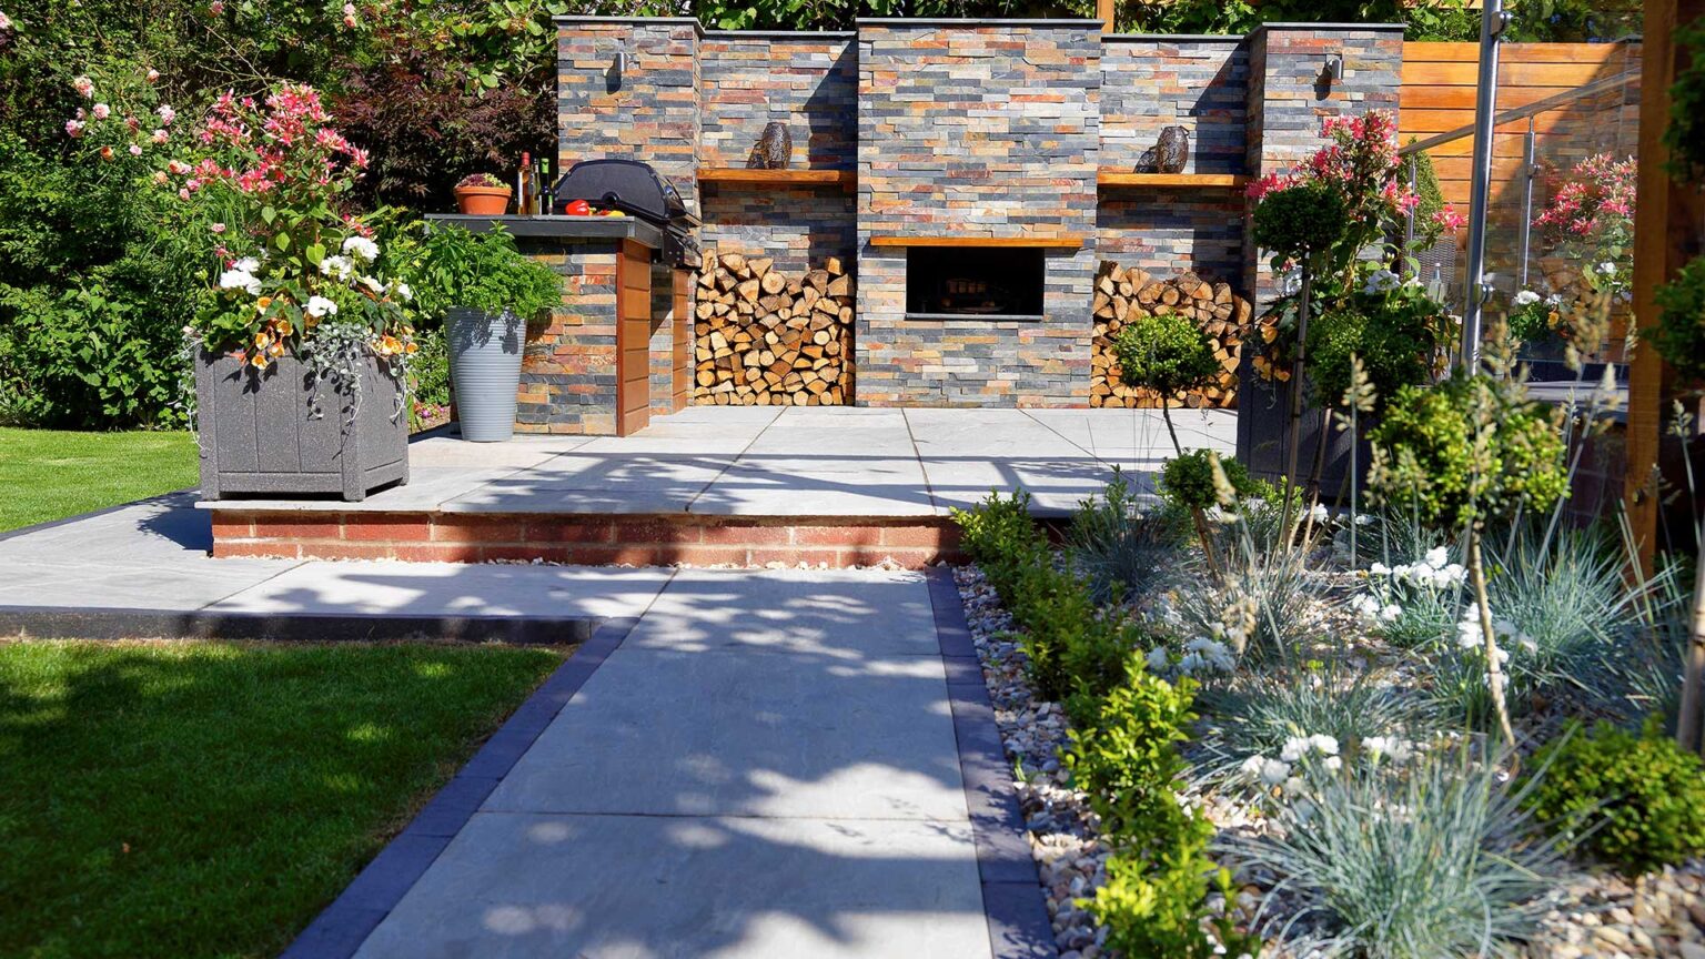
[(215, 309), (194, 333), (264, 370), (286, 350), (321, 374), (355, 375), (365, 355), (402, 374), (416, 350), (406, 283), (346, 198), (367, 154), (334, 126), (312, 87), (286, 84), (264, 102), (220, 96), (194, 130), (193, 152), (162, 181), (179, 200), (228, 212), (220, 235)]

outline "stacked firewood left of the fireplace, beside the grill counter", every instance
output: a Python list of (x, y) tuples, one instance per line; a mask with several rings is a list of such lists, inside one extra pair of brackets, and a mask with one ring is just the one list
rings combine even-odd
[(841, 258), (788, 276), (771, 258), (709, 254), (697, 283), (696, 403), (852, 401), (852, 278)]

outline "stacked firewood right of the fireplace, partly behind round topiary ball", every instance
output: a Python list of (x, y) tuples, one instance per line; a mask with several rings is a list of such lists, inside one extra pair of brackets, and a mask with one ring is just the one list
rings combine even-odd
[(1183, 314), (1214, 341), (1219, 379), (1195, 392), (1166, 398), (1170, 406), (1233, 408), (1238, 404), (1238, 362), (1250, 333), (1250, 302), (1231, 292), (1229, 283), (1209, 283), (1195, 273), (1158, 280), (1137, 266), (1101, 261), (1095, 276), (1095, 355), (1089, 375), (1091, 406), (1159, 406), (1151, 389), (1118, 381), (1113, 338), (1141, 316)]

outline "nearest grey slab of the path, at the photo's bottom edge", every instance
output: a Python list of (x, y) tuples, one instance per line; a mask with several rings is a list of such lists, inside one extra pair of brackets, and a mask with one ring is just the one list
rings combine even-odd
[(970, 826), (479, 812), (365, 959), (989, 956)]

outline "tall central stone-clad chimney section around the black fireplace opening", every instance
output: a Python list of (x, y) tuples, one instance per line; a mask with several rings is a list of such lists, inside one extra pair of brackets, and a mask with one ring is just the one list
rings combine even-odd
[[(1088, 403), (1098, 24), (859, 24), (859, 403)], [(1037, 323), (905, 319), (905, 249), (873, 235), (1081, 237)]]

